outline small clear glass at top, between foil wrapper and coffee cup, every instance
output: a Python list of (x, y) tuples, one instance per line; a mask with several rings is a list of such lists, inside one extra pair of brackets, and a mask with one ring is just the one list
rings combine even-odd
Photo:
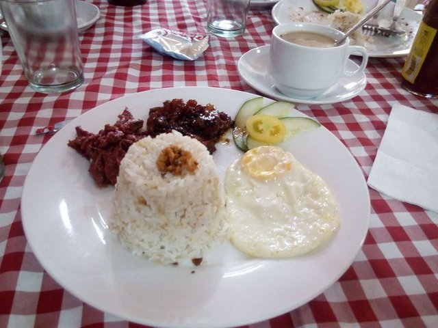
[(207, 27), (216, 36), (240, 36), (246, 27), (250, 0), (207, 0)]

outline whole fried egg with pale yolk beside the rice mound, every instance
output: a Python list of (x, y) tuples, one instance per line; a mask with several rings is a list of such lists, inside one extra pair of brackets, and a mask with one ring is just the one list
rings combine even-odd
[(326, 182), (276, 146), (248, 150), (225, 174), (230, 241), (261, 258), (305, 254), (339, 228)]

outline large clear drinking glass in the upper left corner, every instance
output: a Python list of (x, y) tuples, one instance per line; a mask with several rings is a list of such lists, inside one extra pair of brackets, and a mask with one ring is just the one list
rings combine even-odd
[(0, 9), (29, 85), (66, 92), (83, 83), (76, 0), (0, 0)]

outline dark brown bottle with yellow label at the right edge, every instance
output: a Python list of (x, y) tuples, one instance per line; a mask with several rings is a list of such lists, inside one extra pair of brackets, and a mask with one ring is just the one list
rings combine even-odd
[(438, 0), (428, 4), (411, 52), (402, 68), (402, 87), (426, 98), (438, 98)]

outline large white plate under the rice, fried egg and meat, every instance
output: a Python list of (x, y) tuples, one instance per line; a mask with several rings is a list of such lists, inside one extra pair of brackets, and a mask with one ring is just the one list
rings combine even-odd
[[(88, 161), (67, 146), (76, 137), (75, 126), (97, 133), (114, 124), (125, 107), (135, 118), (146, 119), (149, 108), (165, 100), (195, 99), (234, 118), (254, 97), (211, 87), (151, 90), (100, 105), (53, 135), (29, 169), (21, 201), (27, 241), (44, 269), (95, 308), (155, 327), (245, 325), (288, 312), (324, 292), (355, 259), (370, 216), (361, 169), (326, 128), (303, 133), (286, 148), (320, 174), (337, 198), (341, 226), (332, 240), (289, 259), (250, 258), (227, 242), (206, 254), (200, 267), (161, 266), (131, 254), (108, 230), (114, 188), (96, 187)], [(223, 181), (225, 169), (242, 153), (233, 141), (217, 148), (214, 161)]]

